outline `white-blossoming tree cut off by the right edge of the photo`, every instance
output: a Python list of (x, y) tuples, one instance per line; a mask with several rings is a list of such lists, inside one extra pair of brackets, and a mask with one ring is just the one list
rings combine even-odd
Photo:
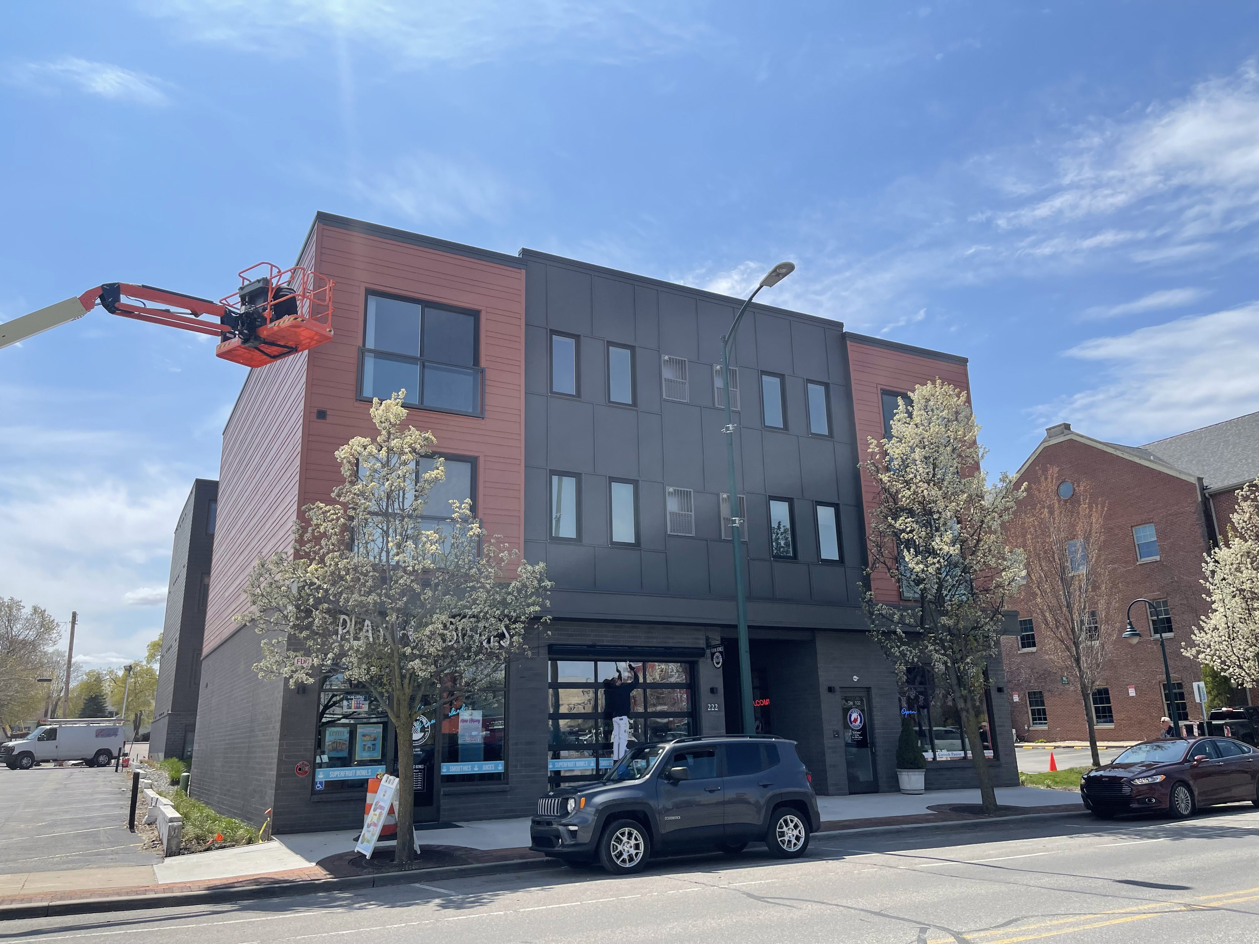
[(1211, 609), (1185, 655), (1235, 685), (1259, 686), (1259, 480), (1238, 493), (1229, 537), (1204, 556), (1202, 573)]

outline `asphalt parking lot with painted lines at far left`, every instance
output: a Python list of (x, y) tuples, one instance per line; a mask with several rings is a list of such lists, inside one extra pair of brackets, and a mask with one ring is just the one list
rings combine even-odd
[(155, 865), (127, 831), (130, 803), (112, 767), (0, 767), (0, 875)]

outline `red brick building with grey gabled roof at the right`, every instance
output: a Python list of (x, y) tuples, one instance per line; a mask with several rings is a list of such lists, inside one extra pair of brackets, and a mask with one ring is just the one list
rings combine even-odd
[[(1087, 486), (1089, 500), (1105, 505), (1100, 560), (1108, 590), (1098, 600), (1097, 632), (1109, 644), (1103, 677), (1093, 692), (1099, 740), (1136, 740), (1158, 734), (1163, 715), (1201, 721), (1194, 683), (1197, 662), (1182, 655), (1207, 609), (1202, 599), (1202, 555), (1225, 534), (1236, 492), (1259, 476), (1259, 413), (1147, 443), (1102, 442), (1059, 423), (1045, 430), (1017, 481), (1027, 485), (1020, 515), (1044, 502), (1070, 501)], [(1129, 602), (1143, 639), (1118, 642)], [(1020, 634), (1002, 641), (1011, 719), (1026, 740), (1085, 740), (1088, 726), (1074, 676), (1046, 655), (1041, 614), (1020, 600)], [(1163, 697), (1165, 673), (1156, 629), (1162, 631), (1175, 709)], [(1255, 692), (1250, 692), (1251, 699)], [(1173, 715), (1172, 711), (1176, 711)]]

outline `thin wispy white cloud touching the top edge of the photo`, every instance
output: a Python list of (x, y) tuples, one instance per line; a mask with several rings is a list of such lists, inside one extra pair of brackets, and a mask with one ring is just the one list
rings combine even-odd
[[(137, 4), (185, 37), (267, 55), (295, 55), (330, 39), (370, 47), (389, 65), (471, 65), (505, 52), (548, 60), (626, 62), (687, 49), (715, 34), (676, 8), (628, 0), (423, 4), (392, 0), (165, 0)], [(311, 43), (310, 40), (315, 40)]]

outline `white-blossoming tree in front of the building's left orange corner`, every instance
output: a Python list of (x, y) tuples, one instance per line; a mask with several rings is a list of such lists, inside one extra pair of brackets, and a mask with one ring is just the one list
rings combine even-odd
[(296, 686), (340, 673), (388, 712), (398, 740), (399, 863), (414, 855), (412, 731), (421, 714), (441, 716), (497, 683), (506, 660), (526, 651), (526, 629), (549, 619), (539, 614), (551, 588), (545, 564), (516, 564), (517, 551), (483, 534), (471, 502), (452, 501), (453, 520), (442, 527), (422, 520), (446, 473), (439, 458), (422, 471), (436, 439), (404, 427), (403, 393), (373, 402), (375, 441), (356, 437), (336, 451), (345, 478), (332, 491), (337, 503), (303, 509), (295, 553), (258, 561), (251, 609), (237, 617), (267, 637), (254, 666), (262, 677)]

